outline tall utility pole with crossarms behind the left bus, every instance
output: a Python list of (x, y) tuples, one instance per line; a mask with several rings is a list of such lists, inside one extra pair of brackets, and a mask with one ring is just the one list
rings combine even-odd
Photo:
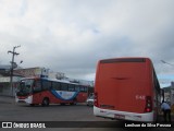
[(13, 51), (9, 50), (8, 53), (12, 53), (12, 61), (11, 61), (11, 73), (10, 73), (10, 86), (11, 86), (11, 95), (13, 96), (13, 69), (16, 68), (16, 63), (14, 62), (14, 56), (20, 55), (17, 52), (15, 52), (15, 49), (18, 48), (21, 46), (15, 46), (13, 47)]

